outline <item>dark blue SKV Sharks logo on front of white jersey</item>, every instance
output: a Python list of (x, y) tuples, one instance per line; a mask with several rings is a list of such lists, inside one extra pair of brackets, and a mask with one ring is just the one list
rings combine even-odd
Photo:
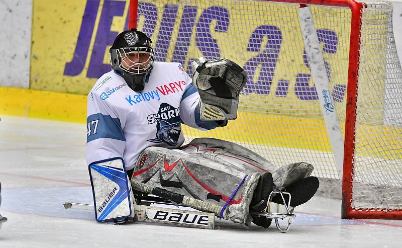
[[(178, 144), (181, 125), (180, 125), (180, 116), (179, 116), (179, 108), (174, 108), (173, 106), (162, 103), (159, 106), (159, 111), (157, 114), (150, 115), (152, 116), (153, 122), (156, 122), (156, 138), (148, 139), (149, 142), (153, 143), (161, 143), (165, 142), (170, 146), (175, 146)], [(150, 116), (148, 116), (148, 120), (150, 120)], [(148, 122), (150, 124), (150, 122)]]

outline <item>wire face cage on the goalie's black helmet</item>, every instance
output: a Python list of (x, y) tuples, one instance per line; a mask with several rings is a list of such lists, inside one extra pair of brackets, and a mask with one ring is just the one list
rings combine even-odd
[(124, 47), (116, 49), (119, 67), (129, 74), (147, 73), (153, 65), (154, 49), (152, 47)]

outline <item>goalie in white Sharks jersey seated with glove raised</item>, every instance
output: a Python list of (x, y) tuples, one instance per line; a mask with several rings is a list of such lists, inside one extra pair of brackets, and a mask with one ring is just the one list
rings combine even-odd
[(86, 158), (97, 221), (125, 222), (134, 215), (135, 197), (156, 193), (184, 205), (184, 198), (194, 200), (190, 206), (203, 211), (217, 206), (218, 217), (267, 228), (272, 219), (261, 213), (285, 206), (289, 214), (316, 193), (311, 164), (278, 168), (219, 139), (183, 145), (182, 124), (210, 130), (236, 119), (247, 74), (233, 61), (196, 59), (191, 78), (180, 63), (154, 62), (151, 39), (136, 29), (117, 36), (110, 59), (112, 70), (97, 80), (87, 102)]

